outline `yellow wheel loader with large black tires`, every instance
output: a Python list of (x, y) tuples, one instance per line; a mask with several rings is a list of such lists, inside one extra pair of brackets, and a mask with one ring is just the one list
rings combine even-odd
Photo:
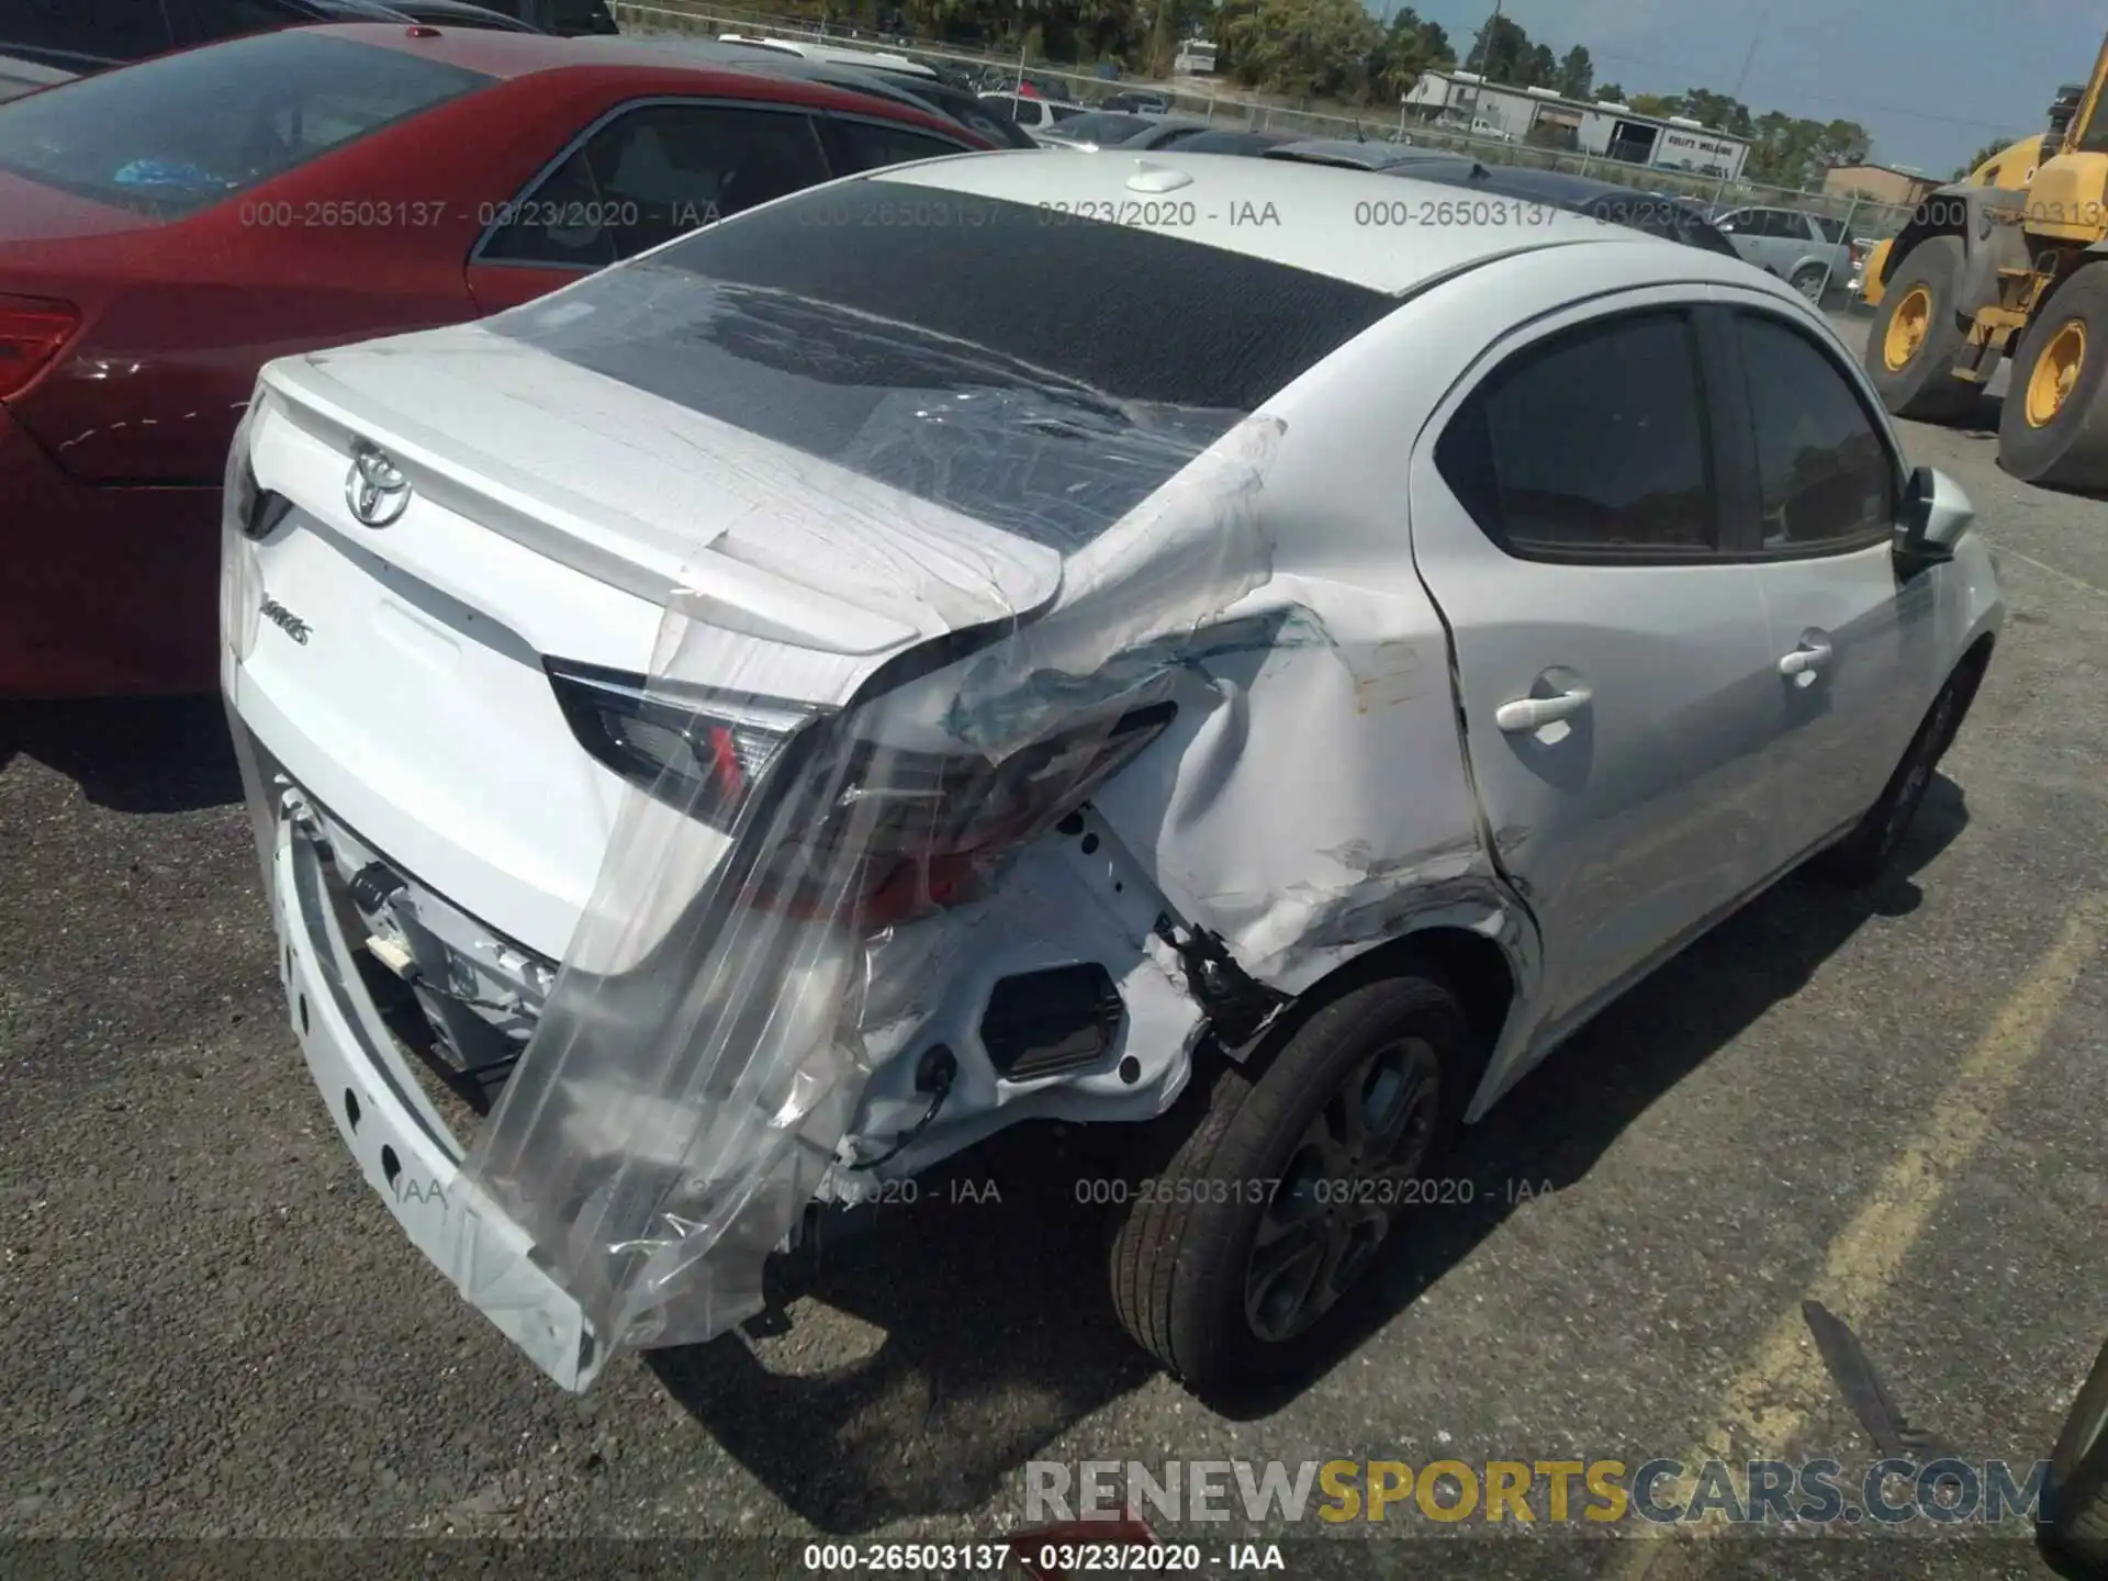
[(1897, 417), (1967, 413), (2013, 358), (1998, 462), (2108, 487), (2108, 42), (2049, 133), (1939, 188), (1866, 264), (1866, 371)]

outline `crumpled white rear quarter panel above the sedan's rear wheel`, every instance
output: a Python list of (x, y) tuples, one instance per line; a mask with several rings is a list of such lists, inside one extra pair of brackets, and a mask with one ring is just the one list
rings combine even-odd
[(1429, 304), (1336, 352), (1269, 403), (1284, 422), (1256, 500), (1271, 578), (1193, 639), (1218, 696), (1183, 713), (1096, 807), (1187, 921), (1303, 993), (1427, 925), (1507, 949), (1528, 917), (1497, 879), (1465, 769), (1442, 618), (1412, 569), (1406, 457), (1448, 379)]

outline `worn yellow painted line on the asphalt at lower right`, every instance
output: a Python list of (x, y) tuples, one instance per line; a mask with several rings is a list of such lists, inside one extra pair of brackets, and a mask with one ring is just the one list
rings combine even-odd
[[(1823, 1267), (1809, 1284), (1809, 1296), (1844, 1322), (1866, 1320), (1925, 1233), (1948, 1183), (1984, 1145), (2005, 1100), (2043, 1052), (2072, 984), (2100, 946), (2104, 925), (2108, 925), (2108, 896), (2089, 894), (2072, 906), (2055, 942), (1998, 1008), (1975, 1048), (1963, 1056), (1916, 1136), (1882, 1172), (1851, 1223), (1830, 1242)], [(1712, 1429), (1684, 1455), (1684, 1465), (1783, 1457), (1809, 1421), (1809, 1402), (1823, 1398), (1828, 1377), (1796, 1299), (1726, 1385)], [(1695, 1476), (1686, 1476), (1674, 1501), (1689, 1501), (1693, 1492)], [(1672, 1495), (1663, 1488), (1657, 1499), (1670, 1503)], [(1659, 1539), (1670, 1530), (1646, 1526), (1642, 1535)], [(1638, 1581), (1663, 1551), (1665, 1545), (1659, 1541), (1634, 1543), (1632, 1551), (1611, 1566), (1608, 1577)]]

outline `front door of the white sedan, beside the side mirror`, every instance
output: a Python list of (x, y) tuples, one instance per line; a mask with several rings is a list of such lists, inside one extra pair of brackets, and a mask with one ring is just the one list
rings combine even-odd
[(1946, 649), (1933, 578), (1895, 573), (1904, 464), (1857, 371), (1754, 295), (1720, 327), (1739, 379), (1718, 379), (1718, 411), (1750, 479), (1726, 510), (1737, 531), (1754, 523), (1777, 710), (1767, 805), (1783, 864), (1874, 803), (1944, 681)]

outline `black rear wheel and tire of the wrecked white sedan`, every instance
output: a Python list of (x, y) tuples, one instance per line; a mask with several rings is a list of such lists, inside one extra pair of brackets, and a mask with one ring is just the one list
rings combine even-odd
[[(1117, 1225), (1119, 1322), (1202, 1393), (1305, 1370), (1353, 1305), (1349, 1290), (1395, 1244), (1391, 1231), (1412, 1212), (1400, 1183), (1423, 1178), (1444, 1153), (1478, 1069), (1457, 997), (1421, 976), (1343, 993), (1263, 1073), (1225, 1069)], [(1379, 1086), (1389, 1088), (1379, 1094), (1385, 1119), (1355, 1162), (1349, 1094)], [(1309, 1284), (1301, 1305), (1299, 1284)]]

